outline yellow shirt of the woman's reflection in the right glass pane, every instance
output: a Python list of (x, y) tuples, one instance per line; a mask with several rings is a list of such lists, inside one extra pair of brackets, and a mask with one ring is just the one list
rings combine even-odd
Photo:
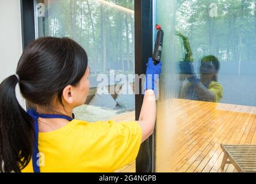
[[(185, 91), (188, 90), (190, 83), (187, 83), (186, 86), (184, 87), (184, 89), (181, 91), (181, 98), (183, 99), (187, 99), (185, 96)], [(215, 81), (212, 81), (209, 84), (208, 90), (212, 91), (212, 93), (214, 94), (215, 97), (215, 102), (220, 102), (220, 100), (223, 97), (223, 87), (221, 86), (220, 83), (217, 83)]]

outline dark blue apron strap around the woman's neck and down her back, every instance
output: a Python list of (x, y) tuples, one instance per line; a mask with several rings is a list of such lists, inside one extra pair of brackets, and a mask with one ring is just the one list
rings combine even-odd
[(34, 120), (34, 128), (35, 128), (35, 141), (33, 144), (33, 152), (32, 152), (32, 163), (33, 163), (33, 170), (34, 173), (40, 173), (40, 167), (39, 164), (37, 164), (37, 160), (39, 159), (39, 149), (38, 149), (38, 135), (39, 135), (39, 128), (38, 128), (38, 122), (37, 118), (62, 118), (68, 121), (72, 121), (75, 118), (75, 115), (72, 114), (72, 118), (64, 115), (59, 114), (39, 114), (36, 112), (35, 109), (28, 109), (28, 112), (30, 117)]

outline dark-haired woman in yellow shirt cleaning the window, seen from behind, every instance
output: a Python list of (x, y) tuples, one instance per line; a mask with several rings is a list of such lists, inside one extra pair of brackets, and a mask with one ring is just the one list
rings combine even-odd
[[(161, 63), (150, 61), (147, 74), (160, 74)], [(89, 73), (85, 50), (71, 39), (44, 37), (26, 47), (16, 74), (0, 85), (0, 171), (112, 172), (136, 159), (154, 130), (154, 87), (139, 121), (88, 123), (72, 110), (86, 101)], [(18, 104), (17, 83), (33, 106), (28, 112)]]

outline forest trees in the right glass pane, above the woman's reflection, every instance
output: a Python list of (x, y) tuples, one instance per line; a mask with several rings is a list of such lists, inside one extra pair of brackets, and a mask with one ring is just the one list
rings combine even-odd
[(189, 37), (195, 61), (211, 54), (223, 66), (235, 65), (235, 74), (246, 73), (256, 63), (255, 5), (255, 0), (177, 0), (175, 29)]

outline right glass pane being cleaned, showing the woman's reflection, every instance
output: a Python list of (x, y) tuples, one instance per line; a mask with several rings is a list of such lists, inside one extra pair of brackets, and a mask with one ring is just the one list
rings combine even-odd
[(156, 171), (238, 171), (233, 164), (221, 169), (221, 144), (256, 144), (255, 5), (156, 2), (165, 31)]

